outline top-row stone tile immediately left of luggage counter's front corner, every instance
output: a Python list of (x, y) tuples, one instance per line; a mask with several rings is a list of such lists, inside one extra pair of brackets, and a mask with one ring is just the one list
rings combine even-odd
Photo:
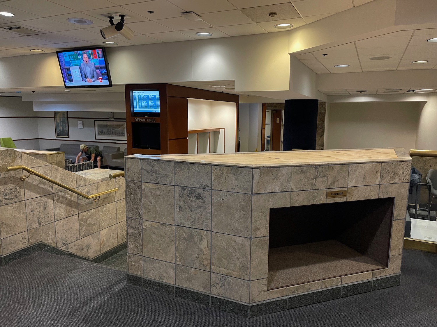
[(212, 189), (252, 193), (252, 169), (240, 167), (212, 167)]

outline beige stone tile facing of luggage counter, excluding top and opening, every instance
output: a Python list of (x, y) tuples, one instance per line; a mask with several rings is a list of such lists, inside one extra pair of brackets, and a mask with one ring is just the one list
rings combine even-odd
[[(362, 281), (372, 289), (400, 272), (411, 158), (395, 152), (398, 159), (261, 168), (126, 157), (129, 274), (152, 290), (208, 295), (211, 306), (213, 297), (250, 306)], [(326, 198), (345, 189), (347, 198)], [(267, 290), (270, 208), (391, 197), (387, 269)]]

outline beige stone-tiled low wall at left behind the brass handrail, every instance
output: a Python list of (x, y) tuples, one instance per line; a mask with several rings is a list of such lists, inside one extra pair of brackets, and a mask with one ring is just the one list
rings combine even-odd
[[(22, 170), (6, 171), (6, 167), (18, 165), (86, 194), (115, 187), (119, 191), (94, 202), (36, 176), (21, 181)], [(124, 243), (125, 180), (109, 179), (111, 172), (104, 170), (106, 177), (87, 178), (14, 149), (0, 148), (0, 257), (43, 242), (95, 259)]]

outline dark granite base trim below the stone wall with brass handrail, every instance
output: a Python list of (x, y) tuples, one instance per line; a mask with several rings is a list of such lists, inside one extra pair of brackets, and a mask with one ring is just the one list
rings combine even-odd
[(10, 254), (3, 255), (2, 257), (0, 257), (0, 267), (7, 265), (8, 263), (13, 262), (15, 260), (24, 258), (25, 256), (31, 255), (32, 253), (35, 253), (38, 251), (44, 251), (44, 252), (52, 253), (55, 255), (68, 255), (69, 257), (72, 257), (75, 259), (81, 259), (81, 260), (85, 260), (85, 261), (101, 263), (102, 261), (110, 258), (111, 256), (116, 255), (118, 252), (123, 251), (124, 249), (126, 249), (126, 247), (127, 247), (127, 243), (124, 242), (124, 243), (121, 243), (120, 245), (117, 245), (115, 248), (112, 248), (112, 249), (102, 253), (101, 255), (98, 255), (94, 259), (88, 259), (88, 258), (81, 257), (80, 255), (76, 255), (76, 254), (71, 253), (71, 252), (62, 251), (58, 248), (55, 248), (54, 246), (47, 245), (43, 242), (39, 242), (39, 243), (30, 245), (24, 249), (18, 250), (16, 252), (12, 252)]

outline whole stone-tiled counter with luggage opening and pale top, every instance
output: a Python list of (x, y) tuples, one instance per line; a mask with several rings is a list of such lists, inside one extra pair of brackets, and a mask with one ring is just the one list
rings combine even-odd
[(403, 149), (126, 157), (128, 283), (256, 317), (399, 285)]

